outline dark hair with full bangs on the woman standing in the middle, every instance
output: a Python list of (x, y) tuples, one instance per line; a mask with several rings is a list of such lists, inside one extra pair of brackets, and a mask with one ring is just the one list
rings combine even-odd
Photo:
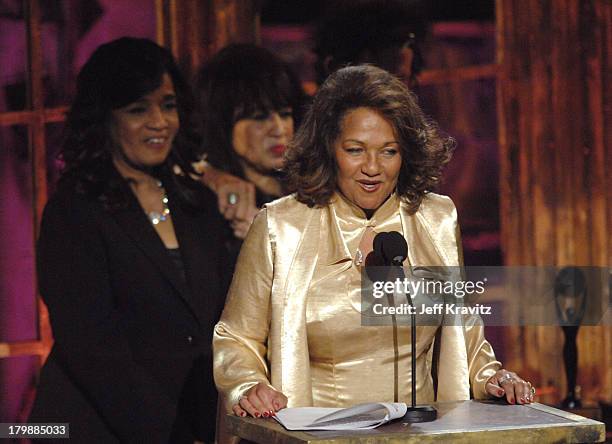
[(265, 48), (235, 44), (223, 48), (198, 73), (196, 92), (208, 160), (244, 177), (232, 146), (234, 124), (258, 111), (293, 110), (297, 127), (305, 94), (289, 65)]

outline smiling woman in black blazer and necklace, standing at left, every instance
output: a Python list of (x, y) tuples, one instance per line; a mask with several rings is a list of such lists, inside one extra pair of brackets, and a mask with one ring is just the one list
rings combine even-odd
[(224, 221), (191, 166), (191, 109), (149, 40), (102, 45), (78, 75), (38, 241), (55, 343), (30, 417), (76, 442), (214, 440)]

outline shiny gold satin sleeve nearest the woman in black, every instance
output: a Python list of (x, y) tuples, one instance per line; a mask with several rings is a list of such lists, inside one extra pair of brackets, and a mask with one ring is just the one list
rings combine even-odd
[(242, 245), (223, 314), (213, 337), (214, 376), (226, 408), (259, 382), (269, 384), (266, 360), (273, 276), (266, 210)]

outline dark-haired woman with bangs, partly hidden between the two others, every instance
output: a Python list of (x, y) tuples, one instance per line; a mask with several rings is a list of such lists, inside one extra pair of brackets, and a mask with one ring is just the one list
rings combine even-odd
[[(284, 61), (246, 44), (222, 49), (203, 66), (197, 91), (206, 161), (253, 184), (242, 193), (230, 184), (220, 196), (220, 210), (243, 239), (259, 208), (285, 194), (283, 155), (305, 96)], [(215, 174), (207, 170), (204, 180), (219, 192)]]

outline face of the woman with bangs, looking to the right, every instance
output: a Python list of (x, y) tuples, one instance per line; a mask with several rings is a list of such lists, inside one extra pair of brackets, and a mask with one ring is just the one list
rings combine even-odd
[(232, 129), (232, 145), (242, 160), (260, 171), (271, 172), (283, 166), (283, 154), (293, 137), (291, 108), (259, 111), (240, 119)]

